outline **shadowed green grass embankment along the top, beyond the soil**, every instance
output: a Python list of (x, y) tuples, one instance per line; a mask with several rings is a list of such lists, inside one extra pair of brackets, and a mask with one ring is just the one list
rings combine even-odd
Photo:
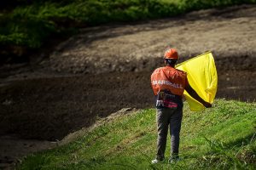
[[(148, 20), (256, 0), (9, 0), (0, 8), (0, 54), (19, 56), (79, 27)], [(15, 5), (16, 4), (16, 5)], [(17, 5), (18, 4), (18, 5)]]

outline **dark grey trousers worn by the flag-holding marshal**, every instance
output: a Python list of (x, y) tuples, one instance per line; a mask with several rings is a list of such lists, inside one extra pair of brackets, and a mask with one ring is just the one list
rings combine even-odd
[(179, 133), (181, 129), (181, 122), (183, 117), (183, 110), (177, 109), (157, 109), (157, 159), (162, 160), (165, 158), (166, 139), (168, 133), (168, 126), (170, 125), (171, 136), (171, 156), (178, 155), (179, 147)]

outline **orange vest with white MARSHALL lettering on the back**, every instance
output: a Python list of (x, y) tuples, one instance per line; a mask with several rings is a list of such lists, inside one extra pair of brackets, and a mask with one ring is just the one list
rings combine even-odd
[(151, 86), (154, 95), (160, 90), (169, 90), (172, 94), (183, 95), (187, 82), (187, 73), (171, 66), (160, 67), (151, 75)]

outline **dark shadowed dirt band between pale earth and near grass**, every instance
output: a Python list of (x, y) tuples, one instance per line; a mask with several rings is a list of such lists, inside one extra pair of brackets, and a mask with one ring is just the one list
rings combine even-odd
[[(154, 107), (151, 72), (123, 72), (15, 81), (0, 88), (0, 133), (26, 139), (62, 139), (96, 116), (125, 107)], [(256, 99), (255, 71), (223, 71), (217, 98)]]

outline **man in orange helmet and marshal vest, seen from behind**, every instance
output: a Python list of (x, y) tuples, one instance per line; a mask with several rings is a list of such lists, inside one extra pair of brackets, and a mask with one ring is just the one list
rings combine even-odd
[(174, 48), (166, 50), (165, 67), (156, 69), (151, 75), (151, 85), (155, 95), (156, 117), (157, 117), (157, 153), (152, 163), (158, 163), (165, 159), (166, 137), (168, 125), (171, 134), (171, 156), (169, 162), (179, 160), (179, 133), (183, 117), (183, 92), (186, 90), (191, 97), (199, 101), (205, 107), (212, 107), (210, 103), (195, 92), (189, 85), (187, 74), (175, 69), (178, 54)]

